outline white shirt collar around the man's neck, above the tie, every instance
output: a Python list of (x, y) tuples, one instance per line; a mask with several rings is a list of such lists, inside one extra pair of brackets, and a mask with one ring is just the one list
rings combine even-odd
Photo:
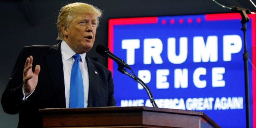
[[(64, 57), (65, 61), (72, 58), (73, 55), (76, 54), (75, 51), (73, 51), (64, 40), (62, 40), (60, 47), (61, 47), (60, 51), (61, 51), (62, 56)], [(82, 62), (84, 63), (86, 53), (79, 54), (79, 55), (81, 56)]]

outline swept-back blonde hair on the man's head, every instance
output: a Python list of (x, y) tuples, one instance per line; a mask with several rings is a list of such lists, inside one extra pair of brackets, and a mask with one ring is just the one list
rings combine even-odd
[(76, 2), (72, 4), (67, 4), (61, 8), (61, 12), (59, 13), (57, 20), (57, 29), (58, 29), (58, 38), (57, 40), (63, 40), (64, 35), (62, 33), (61, 27), (62, 25), (66, 25), (67, 27), (70, 25), (71, 21), (75, 18), (75, 15), (79, 13), (90, 13), (93, 14), (97, 20), (97, 26), (99, 26), (99, 18), (102, 16), (102, 11), (91, 5), (81, 2)]

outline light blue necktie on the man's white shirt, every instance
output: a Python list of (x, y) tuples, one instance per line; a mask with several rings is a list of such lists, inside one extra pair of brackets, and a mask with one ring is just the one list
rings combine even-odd
[(84, 108), (84, 85), (82, 73), (79, 68), (81, 56), (75, 54), (70, 78), (69, 108)]

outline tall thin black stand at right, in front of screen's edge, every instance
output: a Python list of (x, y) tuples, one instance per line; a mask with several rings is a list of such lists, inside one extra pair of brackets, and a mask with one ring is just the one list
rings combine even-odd
[(242, 28), (241, 30), (243, 31), (243, 36), (244, 36), (244, 52), (243, 52), (243, 61), (244, 61), (244, 71), (245, 71), (245, 108), (246, 108), (246, 128), (250, 128), (250, 104), (249, 104), (249, 75), (248, 75), (248, 52), (246, 50), (246, 22), (249, 22), (249, 18), (247, 14), (250, 14), (251, 11), (249, 9), (243, 9), (240, 7), (235, 7), (232, 6), (232, 11), (240, 13), (241, 14), (241, 24)]

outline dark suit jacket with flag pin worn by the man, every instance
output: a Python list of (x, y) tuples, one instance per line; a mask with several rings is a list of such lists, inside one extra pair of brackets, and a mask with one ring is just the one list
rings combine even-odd
[[(33, 56), (33, 71), (41, 71), (32, 95), (22, 100), (22, 79), (26, 57)], [(116, 106), (112, 73), (86, 55), (89, 74), (88, 107)], [(96, 73), (97, 72), (97, 73)], [(18, 127), (42, 127), (40, 108), (66, 108), (64, 73), (60, 43), (54, 46), (26, 46), (20, 52), (9, 83), (2, 95), (5, 113), (19, 113)]]

